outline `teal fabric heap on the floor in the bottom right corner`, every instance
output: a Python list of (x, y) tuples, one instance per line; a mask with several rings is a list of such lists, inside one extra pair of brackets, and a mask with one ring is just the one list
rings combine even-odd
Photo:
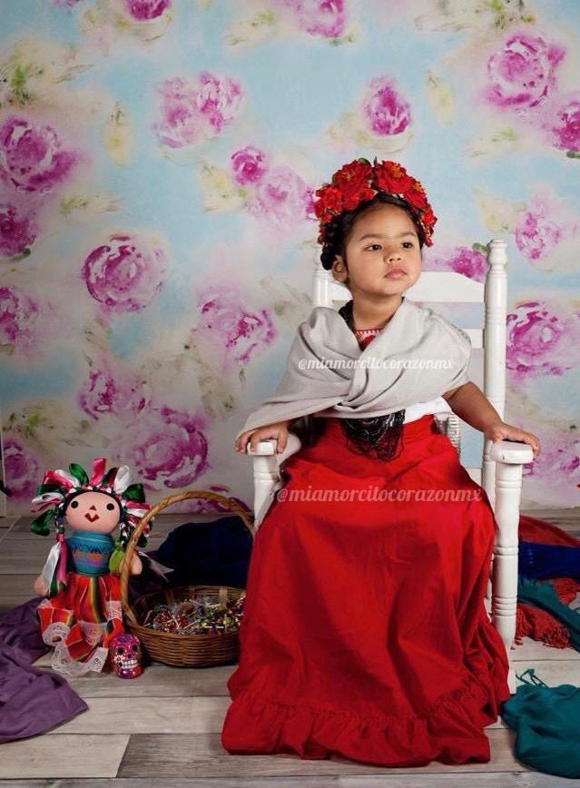
[(538, 772), (580, 777), (580, 687), (548, 686), (533, 667), (516, 677), (525, 684), (502, 704), (501, 717), (516, 731), (517, 760)]

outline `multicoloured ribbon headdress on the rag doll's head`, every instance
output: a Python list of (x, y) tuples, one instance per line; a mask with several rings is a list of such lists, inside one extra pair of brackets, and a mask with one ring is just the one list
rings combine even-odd
[[(69, 501), (80, 492), (103, 492), (112, 496), (119, 504), (119, 528), (121, 544), (126, 547), (134, 528), (143, 515), (151, 508), (145, 503), (142, 484), (129, 484), (130, 470), (126, 465), (121, 468), (106, 469), (103, 457), (93, 460), (91, 478), (82, 466), (71, 463), (68, 473), (65, 470), (47, 470), (43, 483), (36, 489), (36, 497), (32, 501), (32, 512), (42, 512), (30, 524), (34, 534), (45, 537), (50, 532), (51, 521), (54, 520), (56, 532), (64, 531), (64, 510)], [(139, 547), (145, 547), (151, 530), (151, 522), (143, 529), (139, 539)]]

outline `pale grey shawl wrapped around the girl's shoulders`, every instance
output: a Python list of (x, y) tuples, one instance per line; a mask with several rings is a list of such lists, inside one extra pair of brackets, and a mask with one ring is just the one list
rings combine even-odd
[(337, 310), (315, 307), (298, 327), (278, 388), (236, 437), (310, 414), (386, 416), (467, 383), (470, 358), (465, 331), (405, 297), (364, 350)]

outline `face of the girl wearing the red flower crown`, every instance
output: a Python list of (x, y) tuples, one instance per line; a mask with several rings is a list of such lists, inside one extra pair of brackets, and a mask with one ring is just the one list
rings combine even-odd
[[(346, 263), (346, 264), (345, 264)], [(398, 205), (373, 205), (355, 220), (337, 255), (335, 279), (357, 295), (397, 296), (408, 290), (421, 272), (421, 251), (415, 225)]]

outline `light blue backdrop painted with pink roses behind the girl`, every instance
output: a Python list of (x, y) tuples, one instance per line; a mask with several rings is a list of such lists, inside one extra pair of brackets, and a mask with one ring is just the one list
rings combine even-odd
[(426, 270), (483, 281), (507, 241), (506, 420), (543, 446), (524, 503), (578, 505), (579, 35), (577, 0), (3, 4), (8, 513), (100, 455), (150, 500), (251, 506), (233, 437), (311, 308), (313, 192), (358, 156), (425, 185)]

